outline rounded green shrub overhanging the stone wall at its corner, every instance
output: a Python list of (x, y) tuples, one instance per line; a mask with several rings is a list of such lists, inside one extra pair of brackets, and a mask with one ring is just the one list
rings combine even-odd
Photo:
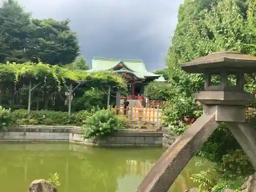
[(94, 114), (84, 119), (84, 138), (104, 136), (118, 128), (118, 117), (113, 111), (97, 110)]

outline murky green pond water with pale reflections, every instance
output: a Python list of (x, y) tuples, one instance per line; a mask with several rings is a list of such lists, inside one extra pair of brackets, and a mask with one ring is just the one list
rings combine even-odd
[[(0, 143), (1, 191), (26, 192), (35, 179), (59, 174), (59, 192), (134, 192), (157, 159), (161, 147), (90, 147), (68, 143)], [(197, 186), (192, 159), (169, 191)], [(204, 160), (203, 160), (204, 161)]]

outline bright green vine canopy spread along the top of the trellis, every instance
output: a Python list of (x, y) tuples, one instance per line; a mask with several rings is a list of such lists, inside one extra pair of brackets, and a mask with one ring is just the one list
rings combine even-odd
[(33, 84), (41, 83), (45, 87), (56, 87), (61, 90), (67, 81), (87, 81), (89, 87), (92, 84), (97, 86), (105, 86), (106, 83), (113, 87), (126, 89), (122, 78), (111, 72), (95, 72), (84, 73), (71, 71), (58, 66), (45, 65), (41, 62), (38, 64), (26, 62), (23, 64), (7, 63), (0, 65), (1, 81), (6, 84), (28, 84), (32, 81)]

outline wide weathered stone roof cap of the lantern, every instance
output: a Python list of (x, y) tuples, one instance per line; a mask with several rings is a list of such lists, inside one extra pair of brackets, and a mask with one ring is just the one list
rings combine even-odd
[(186, 63), (181, 68), (188, 73), (204, 73), (207, 69), (233, 68), (244, 72), (256, 72), (256, 57), (236, 51), (210, 53)]

